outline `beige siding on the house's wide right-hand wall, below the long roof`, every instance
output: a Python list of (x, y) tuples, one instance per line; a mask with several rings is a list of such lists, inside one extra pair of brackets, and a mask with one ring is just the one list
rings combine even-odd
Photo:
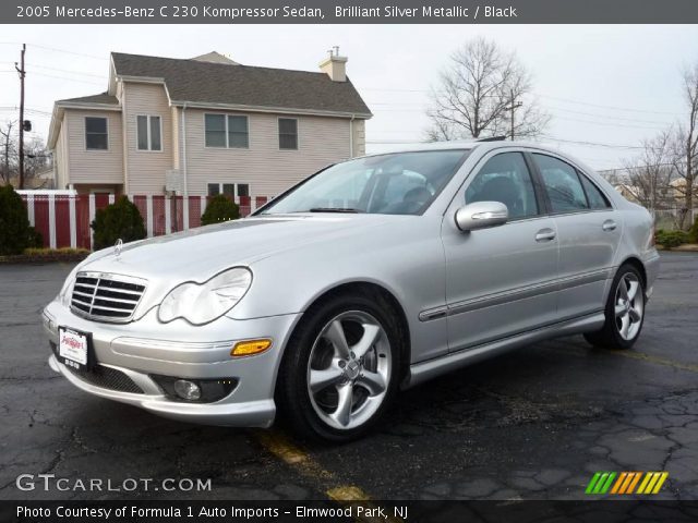
[(278, 115), (248, 113), (250, 148), (226, 149), (205, 147), (206, 112), (222, 111), (185, 111), (190, 195), (206, 194), (209, 182), (227, 182), (250, 184), (252, 196), (276, 196), (328, 163), (349, 157), (348, 119), (299, 115), (299, 149), (279, 150)]

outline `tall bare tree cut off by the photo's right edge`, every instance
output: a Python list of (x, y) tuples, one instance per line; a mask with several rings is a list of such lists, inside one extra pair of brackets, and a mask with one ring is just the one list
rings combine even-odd
[(683, 93), (687, 119), (679, 123), (674, 138), (675, 167), (682, 183), (675, 188), (682, 193), (684, 205), (678, 219), (682, 229), (690, 227), (686, 218), (694, 208), (696, 179), (698, 178), (698, 63), (686, 69), (683, 75)]

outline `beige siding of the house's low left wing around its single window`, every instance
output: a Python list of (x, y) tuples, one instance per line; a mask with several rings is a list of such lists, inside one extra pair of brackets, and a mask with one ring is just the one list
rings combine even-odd
[[(87, 150), (85, 147), (86, 117), (107, 119), (108, 150)], [(61, 179), (63, 186), (67, 183), (123, 183), (120, 112), (67, 109), (61, 134), (64, 132), (67, 154), (62, 161), (68, 177)]]

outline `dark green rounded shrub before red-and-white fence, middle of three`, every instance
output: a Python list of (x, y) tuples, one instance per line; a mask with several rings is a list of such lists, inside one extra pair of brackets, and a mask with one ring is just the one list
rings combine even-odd
[(143, 217), (127, 196), (97, 210), (89, 227), (95, 231), (95, 251), (109, 247), (119, 239), (127, 243), (145, 238)]

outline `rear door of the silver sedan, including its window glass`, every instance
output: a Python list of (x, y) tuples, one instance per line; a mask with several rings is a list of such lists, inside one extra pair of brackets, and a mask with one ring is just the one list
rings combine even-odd
[(623, 223), (603, 192), (559, 157), (533, 153), (559, 243), (561, 319), (600, 311)]

